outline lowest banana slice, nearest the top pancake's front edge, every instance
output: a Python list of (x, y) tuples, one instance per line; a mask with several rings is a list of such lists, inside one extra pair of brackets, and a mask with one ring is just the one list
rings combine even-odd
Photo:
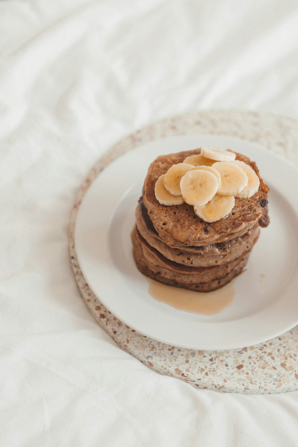
[(216, 222), (227, 217), (235, 205), (235, 198), (232, 195), (220, 196), (215, 194), (210, 202), (201, 207), (193, 207), (194, 212), (205, 222)]

